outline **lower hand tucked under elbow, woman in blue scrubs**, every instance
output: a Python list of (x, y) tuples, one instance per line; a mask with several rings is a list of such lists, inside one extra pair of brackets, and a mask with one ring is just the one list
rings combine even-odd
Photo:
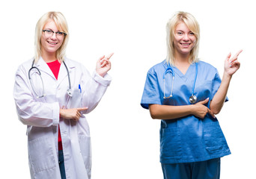
[(209, 98), (205, 99), (204, 101), (199, 101), (196, 104), (193, 104), (193, 115), (204, 119), (204, 117), (207, 115), (207, 113), (210, 113), (211, 116), (213, 116), (213, 118), (216, 118), (216, 116), (214, 116), (214, 113), (208, 108), (206, 107), (204, 104), (207, 104), (207, 102), (209, 101)]

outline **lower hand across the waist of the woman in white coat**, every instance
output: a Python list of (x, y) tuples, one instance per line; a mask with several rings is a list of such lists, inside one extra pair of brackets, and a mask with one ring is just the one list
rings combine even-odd
[(88, 107), (60, 109), (60, 116), (64, 119), (73, 119), (77, 122), (82, 116), (82, 114), (80, 113), (82, 110), (88, 110)]

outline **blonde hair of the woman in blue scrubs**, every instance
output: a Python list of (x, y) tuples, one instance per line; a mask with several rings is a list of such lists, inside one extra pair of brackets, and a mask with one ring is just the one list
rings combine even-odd
[(180, 22), (184, 22), (186, 26), (195, 34), (195, 46), (192, 48), (189, 54), (189, 62), (194, 63), (198, 62), (198, 51), (199, 51), (199, 39), (200, 39), (200, 28), (197, 20), (190, 13), (185, 13), (179, 11), (172, 16), (171, 19), (168, 20), (166, 25), (166, 45), (167, 45), (167, 56), (166, 62), (174, 65), (174, 33), (175, 28)]

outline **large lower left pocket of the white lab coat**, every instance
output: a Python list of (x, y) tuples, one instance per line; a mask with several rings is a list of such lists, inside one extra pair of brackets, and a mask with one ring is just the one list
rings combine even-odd
[(28, 141), (28, 160), (34, 173), (56, 167), (54, 142), (48, 137)]

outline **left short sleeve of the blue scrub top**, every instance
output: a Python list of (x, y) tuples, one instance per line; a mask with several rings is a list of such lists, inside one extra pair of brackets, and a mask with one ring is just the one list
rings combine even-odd
[(149, 104), (161, 104), (158, 78), (156, 72), (153, 70), (147, 72), (147, 78), (141, 98), (141, 107), (148, 109)]

